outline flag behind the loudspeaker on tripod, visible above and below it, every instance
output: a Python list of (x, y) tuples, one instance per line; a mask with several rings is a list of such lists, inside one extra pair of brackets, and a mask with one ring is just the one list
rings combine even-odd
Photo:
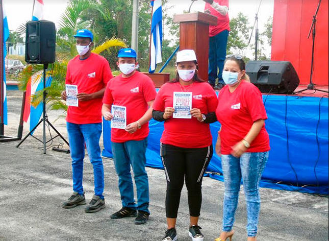
[[(34, 0), (32, 21), (43, 19), (43, 0)], [(46, 87), (52, 84), (53, 78), (50, 75), (46, 76)], [(24, 106), (23, 121), (30, 124), (30, 131), (38, 124), (43, 111), (43, 103), (37, 107), (31, 105), (32, 96), (39, 90), (43, 89), (43, 71), (34, 74), (28, 84)]]

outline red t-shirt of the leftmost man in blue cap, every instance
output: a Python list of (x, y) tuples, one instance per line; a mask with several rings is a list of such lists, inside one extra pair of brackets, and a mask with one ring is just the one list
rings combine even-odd
[[(68, 62), (65, 83), (77, 85), (79, 93), (95, 93), (112, 78), (109, 62), (92, 53), (85, 60), (77, 56)], [(102, 98), (79, 101), (79, 107), (69, 106), (66, 121), (73, 124), (102, 123)]]

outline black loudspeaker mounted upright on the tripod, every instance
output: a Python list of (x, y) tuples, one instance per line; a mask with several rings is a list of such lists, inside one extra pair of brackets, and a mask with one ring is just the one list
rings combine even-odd
[(50, 64), (56, 56), (55, 23), (40, 20), (26, 23), (25, 60), (30, 64)]

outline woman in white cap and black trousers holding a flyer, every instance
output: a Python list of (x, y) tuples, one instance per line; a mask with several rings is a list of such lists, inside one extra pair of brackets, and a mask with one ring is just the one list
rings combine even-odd
[(186, 180), (190, 209), (189, 235), (204, 240), (198, 225), (203, 175), (213, 155), (210, 123), (216, 122), (217, 97), (212, 87), (197, 76), (193, 50), (177, 54), (176, 78), (163, 85), (154, 102), (153, 118), (164, 122), (161, 157), (167, 178), (168, 230), (162, 240), (177, 240), (176, 219)]

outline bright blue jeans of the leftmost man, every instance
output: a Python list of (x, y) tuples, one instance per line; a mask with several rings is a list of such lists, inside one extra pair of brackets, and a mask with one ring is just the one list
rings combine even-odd
[(66, 127), (72, 158), (73, 191), (80, 195), (84, 192), (82, 178), (86, 143), (89, 159), (94, 169), (95, 195), (104, 199), (104, 167), (99, 147), (102, 123), (84, 125), (67, 123)]

